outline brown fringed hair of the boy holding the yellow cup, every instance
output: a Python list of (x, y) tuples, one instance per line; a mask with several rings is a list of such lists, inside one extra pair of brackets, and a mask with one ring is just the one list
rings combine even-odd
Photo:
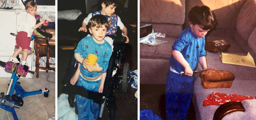
[(103, 15), (94, 15), (92, 18), (90, 18), (88, 22), (89, 28), (95, 27), (96, 28), (101, 28), (102, 26), (105, 26), (108, 30), (108, 20), (105, 16)]

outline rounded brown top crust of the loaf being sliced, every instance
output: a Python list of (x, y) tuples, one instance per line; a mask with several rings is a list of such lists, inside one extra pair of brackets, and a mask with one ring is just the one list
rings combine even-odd
[(235, 76), (229, 71), (207, 70), (199, 74), (201, 80), (205, 82), (233, 81)]

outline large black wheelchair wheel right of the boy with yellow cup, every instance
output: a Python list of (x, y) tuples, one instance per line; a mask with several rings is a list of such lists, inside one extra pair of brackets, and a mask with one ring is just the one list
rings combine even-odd
[(129, 69), (130, 69), (130, 65), (129, 63), (125, 63), (123, 66), (123, 77), (122, 77), (122, 91), (123, 92), (127, 92), (127, 86), (128, 86), (128, 75), (129, 75)]

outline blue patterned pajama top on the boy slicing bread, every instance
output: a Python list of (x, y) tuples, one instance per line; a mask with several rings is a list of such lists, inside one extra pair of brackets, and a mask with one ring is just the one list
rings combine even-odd
[[(191, 69), (194, 71), (197, 67), (199, 57), (205, 56), (205, 37), (197, 38), (191, 31), (191, 28), (187, 28), (181, 32), (179, 38), (172, 45), (172, 50), (180, 51), (185, 60), (189, 63)], [(184, 72), (184, 68), (171, 56), (169, 64), (178, 73)]]

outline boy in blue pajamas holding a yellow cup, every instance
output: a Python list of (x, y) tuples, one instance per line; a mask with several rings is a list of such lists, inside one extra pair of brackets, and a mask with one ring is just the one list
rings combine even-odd
[[(92, 36), (83, 38), (75, 49), (75, 59), (82, 64), (79, 65), (80, 76), (77, 86), (82, 86), (93, 92), (102, 92), (108, 62), (112, 54), (111, 46), (104, 40), (108, 30), (108, 21), (102, 15), (95, 15), (89, 20), (88, 26)], [(94, 54), (98, 57), (95, 65), (87, 63), (88, 54)], [(80, 95), (76, 95), (76, 100), (78, 119), (88, 120), (98, 117), (99, 104)]]

